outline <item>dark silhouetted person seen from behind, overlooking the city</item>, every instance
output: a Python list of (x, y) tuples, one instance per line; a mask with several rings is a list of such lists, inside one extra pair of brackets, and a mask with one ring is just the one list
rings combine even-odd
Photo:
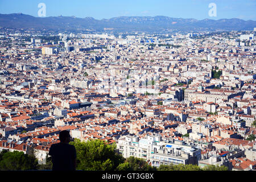
[(69, 131), (60, 131), (60, 143), (51, 145), (49, 155), (52, 156), (52, 171), (75, 171), (76, 148), (68, 144), (71, 141)]

